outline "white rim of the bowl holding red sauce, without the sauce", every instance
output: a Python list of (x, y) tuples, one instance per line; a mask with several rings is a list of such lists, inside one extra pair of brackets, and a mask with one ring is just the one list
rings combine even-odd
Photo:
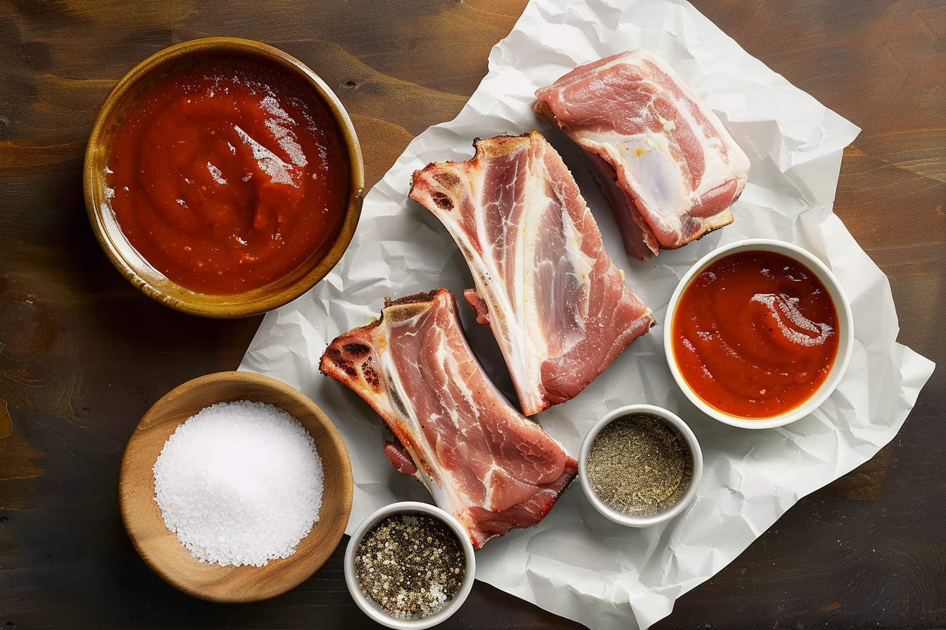
[[(815, 390), (815, 393), (812, 394), (808, 400), (805, 400), (794, 409), (790, 409), (775, 416), (745, 418), (732, 416), (726, 412), (716, 409), (715, 407), (711, 407), (704, 400), (702, 400), (696, 394), (696, 392), (692, 390), (692, 387), (683, 377), (683, 374), (680, 372), (680, 369), (676, 365), (676, 361), (674, 359), (673, 323), (674, 313), (676, 311), (676, 306), (680, 301), (680, 296), (683, 294), (683, 291), (687, 288), (687, 286), (690, 285), (690, 282), (693, 280), (693, 278), (699, 275), (710, 264), (715, 263), (721, 258), (739, 251), (756, 250), (773, 251), (788, 256), (797, 263), (808, 267), (808, 269), (812, 271), (815, 276), (817, 276), (818, 280), (820, 280), (825, 285), (825, 288), (828, 290), (828, 293), (834, 303), (834, 309), (837, 313), (838, 320), (839, 339), (837, 354), (834, 357), (834, 363), (832, 364), (832, 368), (828, 374), (828, 377), (823, 383), (821, 383), (821, 386)], [(667, 315), (664, 321), (666, 322), (663, 329), (664, 354), (667, 359), (667, 365), (670, 367), (670, 371), (674, 375), (674, 381), (676, 382), (677, 386), (687, 397), (687, 399), (690, 400), (697, 409), (702, 411), (707, 416), (719, 420), (720, 422), (724, 422), (730, 426), (739, 427), (742, 429), (772, 429), (781, 427), (795, 422), (802, 417), (806, 417), (814, 412), (815, 409), (820, 407), (825, 400), (828, 400), (828, 398), (832, 395), (832, 392), (837, 388), (837, 385), (841, 382), (841, 379), (844, 377), (844, 373), (848, 369), (850, 356), (854, 347), (854, 318), (850, 308), (850, 300), (845, 294), (844, 288), (841, 286), (840, 281), (838, 281), (832, 273), (832, 270), (828, 267), (828, 265), (821, 262), (821, 260), (815, 256), (815, 254), (808, 251), (807, 249), (799, 247), (794, 243), (778, 241), (775, 239), (751, 238), (736, 241), (735, 243), (731, 243), (727, 246), (719, 247), (701, 258), (699, 261), (693, 264), (692, 267), (690, 267), (683, 278), (681, 278), (677, 283), (676, 288), (674, 289), (674, 294), (670, 298), (670, 302), (667, 305)]]

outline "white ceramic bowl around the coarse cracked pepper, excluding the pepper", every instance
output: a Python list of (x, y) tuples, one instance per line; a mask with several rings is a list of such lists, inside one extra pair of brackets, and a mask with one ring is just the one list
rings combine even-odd
[[(464, 550), (464, 558), (466, 561), (464, 579), (460, 584), (460, 590), (453, 596), (453, 599), (447, 602), (447, 604), (444, 604), (444, 607), (434, 614), (420, 619), (398, 619), (361, 594), (361, 587), (359, 587), (358, 579), (355, 577), (355, 553), (358, 551), (361, 538), (380, 520), (386, 519), (394, 514), (418, 512), (442, 520), (457, 536)], [(460, 524), (459, 520), (454, 519), (436, 505), (415, 501), (402, 501), (385, 505), (367, 519), (361, 521), (358, 529), (355, 530), (351, 540), (348, 542), (348, 548), (345, 550), (344, 570), (345, 584), (348, 586), (348, 591), (355, 599), (355, 604), (358, 604), (359, 608), (361, 608), (366, 615), (389, 628), (422, 630), (422, 628), (429, 628), (442, 621), (446, 621), (450, 615), (455, 613), (457, 609), (464, 604), (466, 596), (470, 594), (470, 589), (473, 588), (473, 580), (476, 574), (476, 556), (473, 554), (473, 543), (470, 542), (470, 537), (466, 534), (466, 530), (464, 530), (464, 526)]]

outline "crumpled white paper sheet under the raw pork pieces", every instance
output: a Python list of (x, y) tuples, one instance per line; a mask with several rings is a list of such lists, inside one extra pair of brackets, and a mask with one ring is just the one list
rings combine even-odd
[[(579, 64), (639, 46), (674, 67), (752, 160), (745, 192), (733, 207), (735, 222), (687, 247), (662, 251), (649, 264), (628, 260), (587, 169), (532, 110), (535, 89)], [(608, 411), (657, 404), (691, 425), (706, 468), (686, 512), (643, 530), (604, 519), (572, 484), (537, 527), (487, 543), (478, 552), (477, 577), (591, 628), (647, 627), (800, 497), (879, 451), (933, 371), (930, 361), (896, 343), (887, 280), (832, 214), (842, 150), (859, 129), (750, 57), (686, 2), (533, 0), (493, 48), (489, 74), (464, 110), (414, 139), (366, 197), (341, 263), (307, 295), (266, 316), (240, 367), (298, 387), (335, 422), (355, 478), (349, 533), (388, 502), (430, 501), (422, 485), (394, 472), (383, 456), (381, 419), (341, 383), (321, 375), (319, 358), (336, 335), (379, 315), (385, 296), (441, 286), (460, 294), (473, 286), (447, 230), (407, 199), (412, 171), (428, 162), (469, 159), (474, 138), (533, 128), (569, 164), (605, 247), (660, 325), (575, 400), (535, 419), (577, 455), (583, 435)], [(815, 413), (780, 429), (736, 429), (702, 415), (677, 390), (662, 347), (667, 302), (680, 277), (714, 247), (747, 237), (790, 241), (814, 252), (832, 268), (853, 307), (856, 341), (844, 380)], [(517, 400), (489, 327), (477, 324), (463, 303), (461, 313), (487, 373)]]

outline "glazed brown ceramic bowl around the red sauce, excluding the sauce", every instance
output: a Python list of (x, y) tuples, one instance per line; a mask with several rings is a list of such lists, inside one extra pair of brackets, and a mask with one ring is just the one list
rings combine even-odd
[[(236, 58), (261, 61), (273, 72), (299, 79), (321, 101), (335, 124), (342, 151), (349, 166), (349, 187), (342, 228), (334, 245), (311, 254), (283, 277), (236, 295), (208, 295), (184, 288), (166, 278), (131, 246), (110, 206), (105, 168), (116, 130), (142, 94), (168, 74), (207, 58)], [(106, 255), (125, 278), (150, 298), (178, 311), (206, 317), (242, 317), (265, 313), (298, 298), (322, 280), (342, 258), (351, 242), (361, 213), (364, 193), (364, 166), (355, 128), (342, 102), (324, 81), (305, 64), (265, 43), (228, 37), (212, 37), (179, 43), (166, 48), (135, 66), (115, 86), (98, 113), (89, 138), (83, 171), (85, 206), (96, 238)]]

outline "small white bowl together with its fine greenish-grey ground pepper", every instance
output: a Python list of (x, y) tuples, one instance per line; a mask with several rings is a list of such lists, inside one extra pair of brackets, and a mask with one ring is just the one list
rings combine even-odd
[(622, 525), (649, 527), (692, 502), (703, 451), (680, 417), (654, 405), (628, 405), (591, 427), (578, 470), (595, 509)]

